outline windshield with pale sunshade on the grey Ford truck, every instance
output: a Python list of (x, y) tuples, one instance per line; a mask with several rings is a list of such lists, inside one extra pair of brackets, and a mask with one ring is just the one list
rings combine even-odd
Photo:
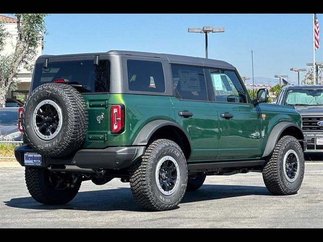
[(288, 105), (323, 105), (323, 89), (295, 89), (286, 95)]

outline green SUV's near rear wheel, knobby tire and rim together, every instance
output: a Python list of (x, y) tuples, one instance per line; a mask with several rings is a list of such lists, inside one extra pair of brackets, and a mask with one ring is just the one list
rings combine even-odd
[(173, 141), (151, 143), (130, 168), (130, 187), (143, 208), (164, 211), (177, 207), (186, 191), (187, 165), (181, 148)]

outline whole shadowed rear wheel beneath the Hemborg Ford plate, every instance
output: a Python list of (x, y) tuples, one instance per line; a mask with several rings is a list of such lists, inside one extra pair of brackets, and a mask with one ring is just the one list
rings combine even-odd
[(45, 205), (70, 202), (78, 193), (82, 182), (81, 177), (56, 174), (47, 168), (32, 167), (25, 167), (25, 179), (31, 197)]

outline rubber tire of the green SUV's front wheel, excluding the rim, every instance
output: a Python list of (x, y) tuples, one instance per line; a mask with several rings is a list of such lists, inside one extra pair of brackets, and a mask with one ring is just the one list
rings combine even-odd
[[(293, 182), (290, 182), (284, 173), (284, 156), (289, 150), (293, 150), (299, 159), (299, 172)], [(268, 191), (274, 195), (296, 194), (303, 181), (304, 163), (304, 154), (299, 142), (292, 136), (282, 137), (262, 170), (263, 181)]]

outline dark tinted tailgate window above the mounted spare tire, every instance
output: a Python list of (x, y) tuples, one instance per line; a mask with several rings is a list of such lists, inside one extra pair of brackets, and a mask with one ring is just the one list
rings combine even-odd
[(32, 90), (39, 85), (52, 83), (56, 79), (67, 79), (69, 84), (82, 85), (79, 92), (109, 92), (110, 91), (110, 61), (101, 60), (99, 65), (93, 61), (72, 61), (36, 64)]

